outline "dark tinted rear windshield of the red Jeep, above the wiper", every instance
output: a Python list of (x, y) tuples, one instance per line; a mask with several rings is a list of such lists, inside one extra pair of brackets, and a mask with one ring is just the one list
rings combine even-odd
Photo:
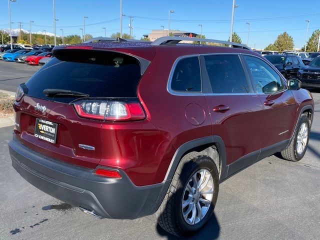
[(46, 96), (46, 88), (65, 89), (90, 97), (136, 97), (141, 77), (139, 61), (132, 56), (107, 51), (67, 50), (53, 57), (25, 84), (27, 95), (59, 102), (77, 96)]

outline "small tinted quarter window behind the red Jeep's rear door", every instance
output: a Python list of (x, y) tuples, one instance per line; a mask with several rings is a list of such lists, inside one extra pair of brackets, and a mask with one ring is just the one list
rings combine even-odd
[(201, 91), (198, 57), (183, 58), (175, 66), (171, 89), (175, 91)]

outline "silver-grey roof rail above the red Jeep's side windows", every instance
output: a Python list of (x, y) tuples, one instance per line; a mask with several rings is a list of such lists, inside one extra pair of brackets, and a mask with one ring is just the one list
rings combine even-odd
[(207, 39), (207, 38), (199, 38), (199, 37), (185, 37), (185, 36), (162, 36), (154, 41), (151, 42), (151, 45), (158, 46), (158, 45), (175, 45), (180, 41), (205, 41), (205, 42), (214, 42), (214, 43), (221, 43), (231, 45), (232, 47), (237, 48), (244, 48), (248, 50), (252, 50), (250, 47), (240, 44), (237, 42), (232, 41), (222, 41), (222, 40), (214, 40), (214, 39)]

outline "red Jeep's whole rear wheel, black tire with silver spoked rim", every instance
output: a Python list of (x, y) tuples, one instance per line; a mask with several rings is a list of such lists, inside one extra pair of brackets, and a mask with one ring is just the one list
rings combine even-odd
[(185, 155), (156, 213), (159, 225), (176, 236), (199, 230), (213, 213), (218, 187), (218, 171), (210, 157)]

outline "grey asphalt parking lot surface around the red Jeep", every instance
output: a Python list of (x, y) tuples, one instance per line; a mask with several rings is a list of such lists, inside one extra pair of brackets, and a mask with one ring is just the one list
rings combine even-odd
[[(0, 61), (0, 89), (15, 91), (38, 66)], [(300, 162), (274, 155), (220, 184), (214, 215), (192, 239), (318, 239), (320, 236), (320, 89)], [(0, 128), (0, 239), (177, 239), (152, 217), (96, 219), (41, 192), (11, 166), (12, 126)]]

